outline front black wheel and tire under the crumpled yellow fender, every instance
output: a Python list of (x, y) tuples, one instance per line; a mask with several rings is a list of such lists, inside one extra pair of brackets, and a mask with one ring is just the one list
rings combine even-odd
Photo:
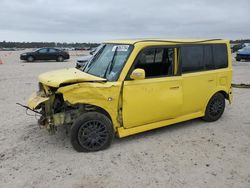
[(113, 138), (111, 120), (99, 112), (86, 112), (71, 127), (71, 144), (78, 152), (104, 150), (110, 146)]

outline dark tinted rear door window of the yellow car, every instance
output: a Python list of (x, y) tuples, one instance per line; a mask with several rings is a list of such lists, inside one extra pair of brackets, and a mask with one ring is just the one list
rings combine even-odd
[(182, 73), (204, 70), (203, 46), (183, 46), (181, 48)]

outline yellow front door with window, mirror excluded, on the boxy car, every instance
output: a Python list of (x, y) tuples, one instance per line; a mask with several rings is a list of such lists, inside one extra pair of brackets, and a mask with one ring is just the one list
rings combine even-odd
[(137, 68), (145, 79), (124, 81), (124, 128), (176, 118), (183, 103), (182, 78), (177, 75), (176, 48), (149, 48), (140, 52), (129, 74)]

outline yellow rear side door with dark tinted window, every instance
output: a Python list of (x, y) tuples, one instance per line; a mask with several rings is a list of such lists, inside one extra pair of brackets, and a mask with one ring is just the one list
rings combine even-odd
[(203, 112), (217, 84), (213, 45), (183, 46), (181, 67), (184, 100), (182, 114)]

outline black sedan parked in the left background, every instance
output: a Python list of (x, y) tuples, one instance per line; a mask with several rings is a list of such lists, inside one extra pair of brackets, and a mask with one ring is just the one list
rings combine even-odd
[(35, 60), (56, 60), (59, 62), (69, 59), (68, 52), (57, 48), (40, 48), (34, 52), (26, 52), (20, 55), (21, 60), (33, 62)]

